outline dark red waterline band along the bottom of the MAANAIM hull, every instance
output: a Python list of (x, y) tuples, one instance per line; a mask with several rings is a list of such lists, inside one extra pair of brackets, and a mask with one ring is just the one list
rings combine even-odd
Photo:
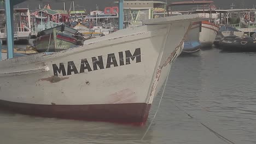
[(151, 104), (51, 105), (0, 100), (0, 109), (31, 116), (143, 125)]

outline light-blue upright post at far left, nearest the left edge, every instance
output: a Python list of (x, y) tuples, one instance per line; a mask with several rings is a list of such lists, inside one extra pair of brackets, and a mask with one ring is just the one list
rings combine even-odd
[(5, 25), (7, 29), (7, 58), (13, 58), (13, 47), (14, 47), (14, 39), (13, 39), (13, 21), (14, 21), (14, 13), (13, 13), (13, 0), (5, 0), (5, 14), (6, 20)]

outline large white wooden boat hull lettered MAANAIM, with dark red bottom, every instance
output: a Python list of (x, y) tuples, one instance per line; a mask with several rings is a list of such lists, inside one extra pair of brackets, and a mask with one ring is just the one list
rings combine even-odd
[[(144, 124), (191, 21), (162, 17), (83, 46), (0, 61), (0, 109), (41, 117)], [(29, 91), (28, 91), (29, 89)]]

